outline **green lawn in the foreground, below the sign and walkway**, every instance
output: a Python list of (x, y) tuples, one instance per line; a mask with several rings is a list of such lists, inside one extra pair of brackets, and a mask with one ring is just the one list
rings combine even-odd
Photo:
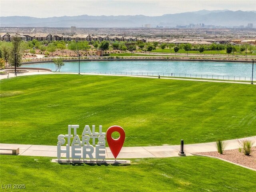
[(25, 184), (31, 192), (253, 192), (256, 187), (255, 171), (197, 156), (132, 160), (129, 166), (58, 164), (30, 156), (0, 159), (1, 186)]

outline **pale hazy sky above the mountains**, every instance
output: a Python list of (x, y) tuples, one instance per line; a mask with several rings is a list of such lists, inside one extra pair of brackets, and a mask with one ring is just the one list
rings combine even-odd
[(0, 16), (146, 15), (256, 10), (256, 0), (0, 0)]

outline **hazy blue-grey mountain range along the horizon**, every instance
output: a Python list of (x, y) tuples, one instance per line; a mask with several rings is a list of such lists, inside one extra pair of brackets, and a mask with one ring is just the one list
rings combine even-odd
[(216, 26), (256, 26), (256, 11), (230, 10), (200, 10), (162, 16), (61, 16), (36, 18), (28, 16), (0, 17), (1, 27), (102, 27), (102, 28), (131, 28), (150, 24), (155, 26), (189, 25), (190, 23)]

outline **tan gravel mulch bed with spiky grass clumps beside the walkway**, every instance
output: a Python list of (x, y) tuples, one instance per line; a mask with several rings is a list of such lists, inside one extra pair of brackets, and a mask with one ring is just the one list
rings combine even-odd
[(250, 167), (256, 170), (256, 147), (255, 146), (252, 147), (252, 153), (250, 154), (250, 156), (244, 155), (242, 152), (239, 152), (238, 149), (224, 150), (222, 155), (216, 151), (202, 152), (197, 154), (218, 157), (218, 158), (228, 160), (230, 162), (240, 164), (246, 167)]

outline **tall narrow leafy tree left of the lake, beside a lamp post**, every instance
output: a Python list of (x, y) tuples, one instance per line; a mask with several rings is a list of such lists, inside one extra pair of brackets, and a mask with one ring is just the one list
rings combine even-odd
[(11, 66), (19, 67), (22, 65), (22, 49), (21, 39), (19, 36), (14, 36), (12, 40), (12, 47), (9, 54), (9, 60)]

